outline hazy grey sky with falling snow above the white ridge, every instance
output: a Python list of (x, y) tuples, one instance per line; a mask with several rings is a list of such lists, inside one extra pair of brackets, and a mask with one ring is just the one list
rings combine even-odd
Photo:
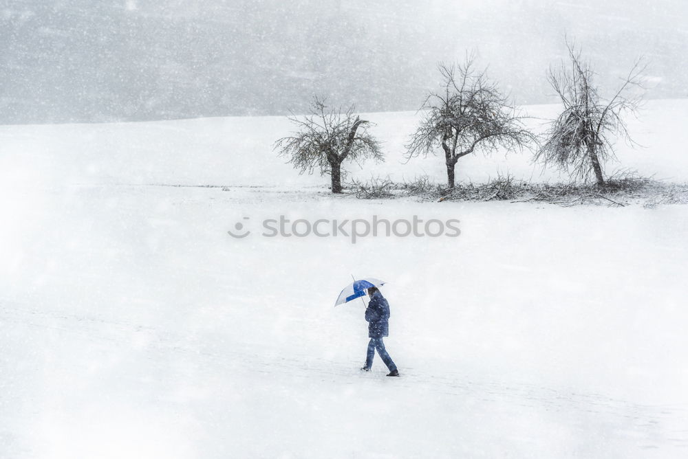
[(648, 96), (684, 98), (686, 19), (682, 0), (3, 0), (0, 122), (279, 114), (314, 93), (417, 109), (466, 50), (517, 102), (550, 102), (564, 34), (603, 87), (645, 56)]

